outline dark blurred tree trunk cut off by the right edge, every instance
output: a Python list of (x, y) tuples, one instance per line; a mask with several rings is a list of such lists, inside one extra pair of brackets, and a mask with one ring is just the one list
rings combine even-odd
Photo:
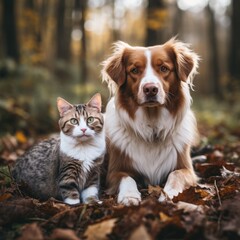
[(230, 75), (240, 80), (240, 1), (232, 0), (232, 24), (230, 40)]

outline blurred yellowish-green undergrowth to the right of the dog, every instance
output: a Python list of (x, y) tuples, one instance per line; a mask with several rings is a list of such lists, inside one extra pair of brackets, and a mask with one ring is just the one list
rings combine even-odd
[(240, 139), (239, 96), (231, 101), (219, 101), (211, 97), (195, 97), (195, 110), (202, 137), (211, 143), (230, 143)]

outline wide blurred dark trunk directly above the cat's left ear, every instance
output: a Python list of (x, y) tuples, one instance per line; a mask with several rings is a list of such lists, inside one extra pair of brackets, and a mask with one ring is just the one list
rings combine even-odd
[(57, 1), (57, 58), (69, 60), (70, 43), (72, 32), (72, 8), (69, 6), (71, 1)]

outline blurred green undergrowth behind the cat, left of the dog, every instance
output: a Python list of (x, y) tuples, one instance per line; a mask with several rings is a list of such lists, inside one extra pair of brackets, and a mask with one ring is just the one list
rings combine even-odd
[[(99, 79), (79, 84), (77, 66), (56, 62), (54, 70), (20, 65), (0, 81), (1, 135), (45, 134), (58, 131), (58, 96), (73, 103), (89, 100), (96, 92), (106, 95)], [(105, 99), (105, 98), (103, 98)]]

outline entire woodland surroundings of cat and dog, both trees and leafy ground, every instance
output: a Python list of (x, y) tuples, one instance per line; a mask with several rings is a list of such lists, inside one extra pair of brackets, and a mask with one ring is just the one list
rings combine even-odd
[[(239, 0), (0, 0), (0, 240), (240, 239)], [(192, 150), (199, 184), (159, 203), (160, 186), (139, 206), (40, 202), (10, 168), (39, 139), (58, 132), (56, 98), (109, 99), (101, 62), (117, 40), (162, 44), (173, 36), (201, 57)]]

